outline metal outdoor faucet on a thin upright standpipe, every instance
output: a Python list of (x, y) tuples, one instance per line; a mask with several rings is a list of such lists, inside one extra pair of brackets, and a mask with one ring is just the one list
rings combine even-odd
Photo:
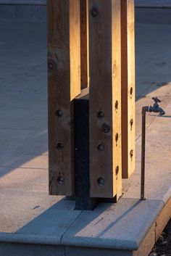
[(159, 115), (164, 115), (165, 112), (162, 107), (159, 107), (160, 99), (157, 97), (152, 98), (154, 100), (153, 106), (142, 107), (142, 141), (141, 141), (141, 200), (146, 200), (144, 197), (145, 190), (145, 149), (146, 149), (146, 112), (155, 112)]

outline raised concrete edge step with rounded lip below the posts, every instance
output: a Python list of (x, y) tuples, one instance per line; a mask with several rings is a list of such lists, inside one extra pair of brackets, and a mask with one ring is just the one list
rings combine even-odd
[(17, 232), (0, 233), (0, 255), (146, 256), (170, 219), (171, 199), (122, 198), (89, 212), (74, 206), (59, 199)]

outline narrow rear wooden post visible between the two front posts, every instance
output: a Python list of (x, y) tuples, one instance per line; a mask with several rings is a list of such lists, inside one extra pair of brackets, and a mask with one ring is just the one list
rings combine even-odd
[(82, 88), (89, 86), (88, 49), (88, 0), (80, 0), (80, 71)]

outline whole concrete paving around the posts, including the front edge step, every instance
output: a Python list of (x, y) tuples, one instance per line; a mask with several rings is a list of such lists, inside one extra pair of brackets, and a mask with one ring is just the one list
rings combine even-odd
[[(46, 23), (0, 22), (0, 255), (140, 255), (133, 250), (147, 234), (141, 255), (149, 251), (171, 194), (170, 30), (136, 26), (136, 171), (117, 205), (82, 212), (48, 195)], [(147, 115), (148, 200), (139, 202), (141, 107), (151, 96), (162, 99), (166, 117)], [(167, 205), (164, 219), (170, 214)]]

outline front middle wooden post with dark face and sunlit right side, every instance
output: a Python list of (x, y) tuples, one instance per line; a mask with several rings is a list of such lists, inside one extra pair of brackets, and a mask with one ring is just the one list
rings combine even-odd
[(91, 197), (122, 194), (120, 1), (89, 0)]

